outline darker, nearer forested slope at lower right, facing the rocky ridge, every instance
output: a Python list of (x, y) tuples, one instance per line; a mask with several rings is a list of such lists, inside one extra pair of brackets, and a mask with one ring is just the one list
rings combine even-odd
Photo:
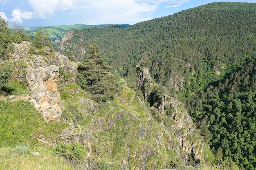
[(188, 100), (201, 135), (217, 159), (256, 167), (256, 54), (215, 84)]

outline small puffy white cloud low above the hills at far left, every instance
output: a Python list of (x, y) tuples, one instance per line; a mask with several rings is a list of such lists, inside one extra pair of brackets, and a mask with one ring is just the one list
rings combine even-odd
[(33, 13), (30, 11), (22, 11), (21, 9), (14, 9), (11, 13), (12, 22), (22, 23), (22, 19), (32, 19)]

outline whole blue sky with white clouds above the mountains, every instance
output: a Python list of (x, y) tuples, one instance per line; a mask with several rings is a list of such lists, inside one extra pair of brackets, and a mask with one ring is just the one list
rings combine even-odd
[(211, 2), (218, 0), (0, 0), (0, 16), (9, 26), (132, 25)]

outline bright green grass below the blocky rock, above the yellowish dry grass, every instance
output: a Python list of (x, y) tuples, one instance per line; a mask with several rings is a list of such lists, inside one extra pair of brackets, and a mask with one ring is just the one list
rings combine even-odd
[(60, 141), (61, 131), (69, 127), (63, 121), (45, 122), (30, 102), (0, 100), (0, 146), (37, 144), (37, 137)]

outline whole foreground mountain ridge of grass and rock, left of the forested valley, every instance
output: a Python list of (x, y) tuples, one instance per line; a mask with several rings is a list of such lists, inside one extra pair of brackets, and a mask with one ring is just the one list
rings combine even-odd
[[(160, 169), (212, 161), (181, 102), (159, 93), (158, 106), (150, 107), (121, 77), (120, 91), (96, 102), (76, 83), (79, 63), (47, 46), (31, 53), (32, 45), (14, 43), (9, 54), (13, 79), (1, 88), (0, 100), (1, 169)], [(158, 88), (147, 68), (137, 70), (140, 88), (145, 82)], [(29, 166), (11, 163), (20, 158)]]

